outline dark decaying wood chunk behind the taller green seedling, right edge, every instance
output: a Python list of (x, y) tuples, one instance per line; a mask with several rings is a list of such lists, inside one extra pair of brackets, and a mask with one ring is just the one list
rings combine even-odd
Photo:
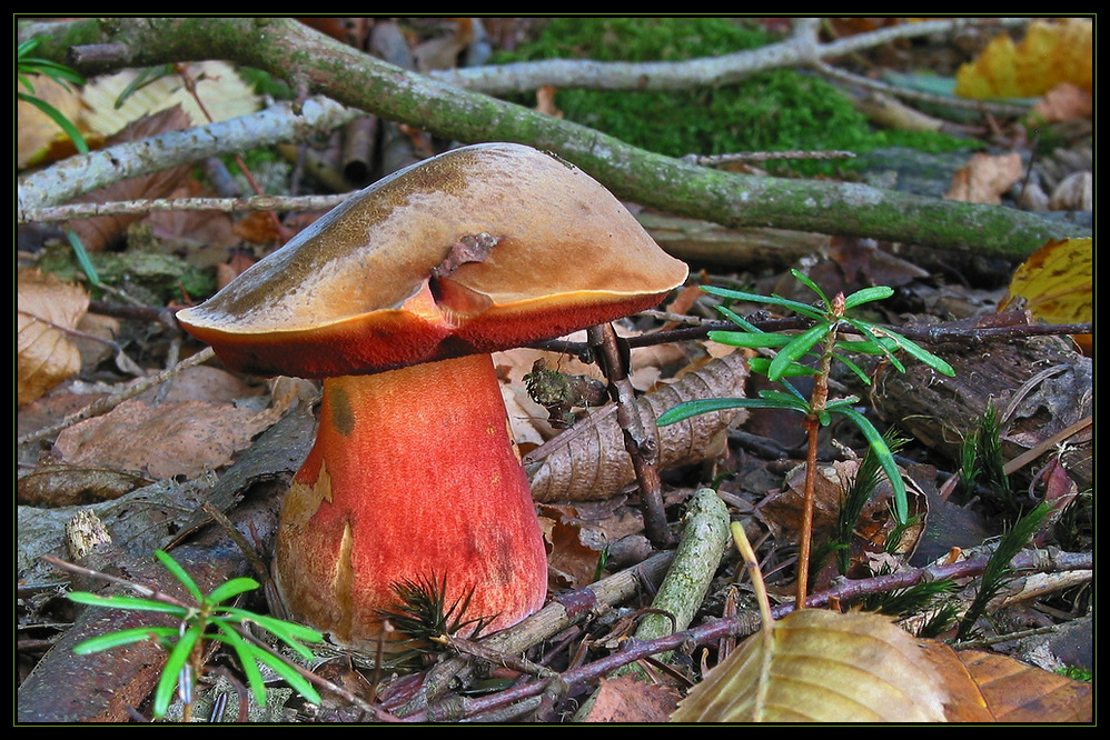
[[(889, 369), (879, 378), (872, 400), (889, 421), (953, 461), (989, 403), (999, 413), (1007, 460), (1093, 413), (1093, 363), (1060, 338), (924, 346), (944, 358), (955, 377), (945, 378), (919, 363), (906, 364), (904, 373)], [(1059, 454), (1084, 490), (1093, 484), (1092, 433), (1089, 426), (1080, 429), (1054, 447), (1050, 443), (1047, 452)]]

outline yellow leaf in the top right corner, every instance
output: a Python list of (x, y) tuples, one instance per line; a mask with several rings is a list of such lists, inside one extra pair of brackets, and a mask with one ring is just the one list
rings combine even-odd
[(1088, 18), (1033, 21), (1021, 43), (1005, 33), (955, 76), (964, 98), (1037, 98), (1061, 82), (1092, 91), (1094, 24)]

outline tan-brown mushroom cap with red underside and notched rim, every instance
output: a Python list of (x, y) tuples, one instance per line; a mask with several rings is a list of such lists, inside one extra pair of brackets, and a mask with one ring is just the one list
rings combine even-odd
[(686, 273), (582, 170), (475, 144), (375, 182), (177, 317), (232, 369), (365, 374), (611, 321)]

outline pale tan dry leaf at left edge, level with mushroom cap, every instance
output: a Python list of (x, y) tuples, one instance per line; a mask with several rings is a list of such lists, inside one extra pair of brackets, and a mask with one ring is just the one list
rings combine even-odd
[(30, 403), (81, 369), (81, 353), (63, 329), (89, 308), (80, 286), (22, 269), (16, 280), (16, 402)]

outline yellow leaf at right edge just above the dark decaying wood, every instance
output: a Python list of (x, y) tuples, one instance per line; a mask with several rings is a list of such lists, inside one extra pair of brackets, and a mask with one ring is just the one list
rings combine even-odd
[[(1050, 241), (1018, 268), (999, 311), (1021, 308), (1048, 323), (1094, 320), (1094, 242), (1092, 239)], [(1091, 334), (1074, 337), (1086, 354)]]

